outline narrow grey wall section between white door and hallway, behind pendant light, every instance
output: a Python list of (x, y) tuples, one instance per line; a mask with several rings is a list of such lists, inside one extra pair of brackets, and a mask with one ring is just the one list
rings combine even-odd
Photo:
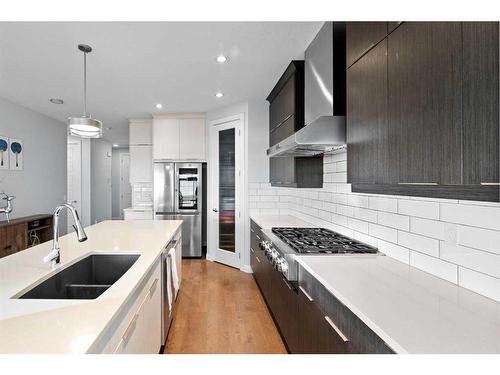
[(111, 143), (92, 139), (91, 146), (91, 223), (111, 219)]

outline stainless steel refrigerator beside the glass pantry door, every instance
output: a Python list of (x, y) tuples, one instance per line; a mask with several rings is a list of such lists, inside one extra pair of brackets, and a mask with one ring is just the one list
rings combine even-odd
[(183, 220), (182, 256), (202, 255), (202, 163), (154, 163), (155, 220)]

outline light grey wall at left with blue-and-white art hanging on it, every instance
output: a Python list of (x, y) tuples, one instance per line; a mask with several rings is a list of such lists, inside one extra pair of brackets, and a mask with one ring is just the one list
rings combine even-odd
[(16, 196), (11, 217), (52, 214), (66, 201), (66, 124), (0, 98), (0, 134), (23, 141), (23, 170), (0, 170), (0, 191)]

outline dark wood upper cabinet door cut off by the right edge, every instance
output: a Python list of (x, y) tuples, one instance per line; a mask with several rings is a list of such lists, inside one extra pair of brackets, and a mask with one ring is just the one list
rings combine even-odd
[(463, 183), (498, 183), (498, 22), (463, 22)]

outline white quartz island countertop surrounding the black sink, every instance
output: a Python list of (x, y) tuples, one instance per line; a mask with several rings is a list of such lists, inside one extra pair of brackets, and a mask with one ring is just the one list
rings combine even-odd
[[(42, 258), (52, 242), (0, 259), (0, 353), (85, 353), (180, 228), (182, 221), (104, 221), (60, 238), (61, 263), (52, 269)], [(94, 300), (29, 300), (13, 296), (89, 253), (140, 254), (133, 266)]]

